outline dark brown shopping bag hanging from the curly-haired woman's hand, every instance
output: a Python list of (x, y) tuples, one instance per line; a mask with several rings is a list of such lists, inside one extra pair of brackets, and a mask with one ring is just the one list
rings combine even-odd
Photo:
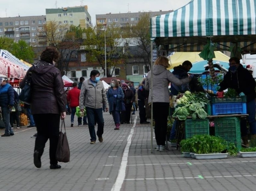
[[(62, 125), (64, 125), (65, 132), (62, 132)], [(66, 127), (64, 119), (61, 120), (61, 129), (59, 132), (59, 140), (56, 150), (56, 159), (59, 162), (67, 163), (69, 162), (70, 151), (69, 151), (69, 143), (66, 135)]]

